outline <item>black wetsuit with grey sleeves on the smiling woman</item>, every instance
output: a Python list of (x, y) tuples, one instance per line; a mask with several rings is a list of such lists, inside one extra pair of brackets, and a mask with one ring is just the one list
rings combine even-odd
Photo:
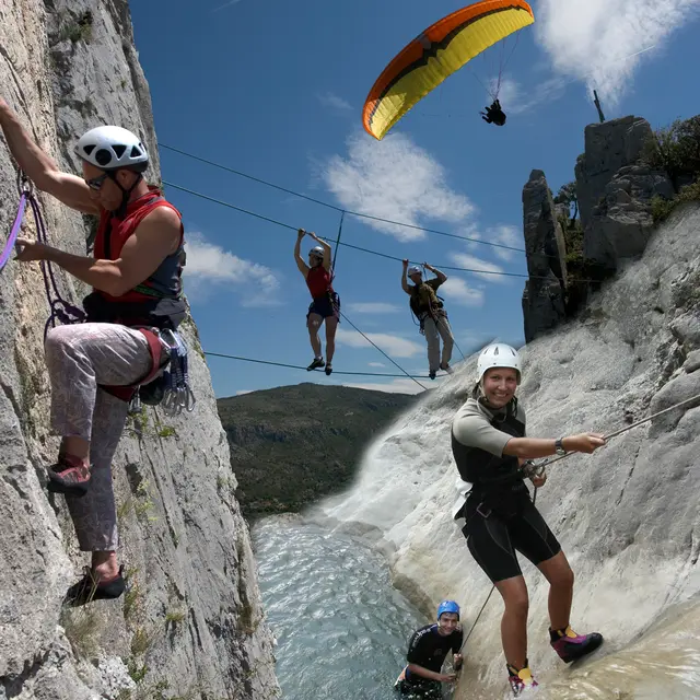
[(530, 500), (517, 457), (502, 454), (511, 438), (524, 436), (525, 415), (515, 399), (493, 412), (469, 399), (453, 421), (453, 455), (462, 479), (474, 485), (462, 512), (462, 532), (494, 583), (522, 575), (515, 550), (535, 565), (561, 551)]

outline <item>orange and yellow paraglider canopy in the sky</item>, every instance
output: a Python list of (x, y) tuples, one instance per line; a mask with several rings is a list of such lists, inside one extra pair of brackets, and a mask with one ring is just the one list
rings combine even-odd
[(525, 0), (481, 0), (435, 22), (384, 69), (362, 112), (382, 140), (420, 100), (483, 50), (535, 22)]

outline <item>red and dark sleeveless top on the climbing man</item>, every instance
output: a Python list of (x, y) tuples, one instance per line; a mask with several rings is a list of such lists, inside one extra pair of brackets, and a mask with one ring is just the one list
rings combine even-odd
[[(172, 209), (180, 219), (182, 214), (173, 205), (163, 199), (156, 187), (150, 187), (148, 195), (143, 195), (138, 199), (129, 202), (127, 212), (122, 219), (117, 219), (109, 211), (103, 211), (100, 217), (100, 226), (95, 237), (94, 257), (95, 259), (116, 260), (121, 254), (121, 248), (129, 236), (132, 236), (139, 224), (158, 207), (167, 207)], [(179, 248), (170, 255), (153, 275), (138, 284), (135, 289), (128, 291), (121, 296), (112, 296), (106, 292), (93, 290), (104, 296), (109, 302), (140, 302), (153, 300), (158, 296), (178, 296), (179, 276), (182, 273), (182, 247), (185, 231), (180, 223)], [(167, 269), (166, 269), (167, 268)], [(172, 268), (172, 269), (171, 269)], [(161, 272), (165, 272), (163, 276)], [(161, 279), (167, 277), (168, 279)], [(172, 278), (172, 279), (170, 279)], [(178, 289), (165, 290), (164, 287), (177, 285)], [(163, 289), (161, 289), (163, 288)]]

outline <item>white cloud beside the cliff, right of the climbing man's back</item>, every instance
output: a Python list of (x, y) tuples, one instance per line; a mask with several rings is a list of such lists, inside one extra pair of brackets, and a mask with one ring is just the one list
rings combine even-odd
[[(280, 282), (270, 268), (209, 243), (201, 233), (187, 234), (185, 250), (187, 264), (183, 277), (188, 295), (206, 294), (213, 284), (221, 284), (238, 288), (244, 293), (244, 306), (280, 303), (276, 296)], [(255, 293), (250, 293), (252, 289)]]

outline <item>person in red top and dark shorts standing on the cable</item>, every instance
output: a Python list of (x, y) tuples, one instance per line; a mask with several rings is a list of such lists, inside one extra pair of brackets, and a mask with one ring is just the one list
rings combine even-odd
[[(318, 245), (308, 252), (308, 265), (301, 256), (302, 238), (308, 235)], [(311, 347), (314, 351), (314, 361), (306, 368), (310, 372), (317, 368), (326, 368), (326, 374), (332, 372), (332, 355), (336, 351), (336, 330), (340, 323), (340, 296), (332, 289), (334, 273), (330, 269), (330, 246), (322, 241), (315, 233), (299, 230), (296, 244), (294, 245), (294, 260), (299, 271), (304, 276), (306, 285), (311, 292), (312, 302), (306, 313), (306, 327)], [(320, 351), (318, 330), (326, 323), (326, 361)]]

